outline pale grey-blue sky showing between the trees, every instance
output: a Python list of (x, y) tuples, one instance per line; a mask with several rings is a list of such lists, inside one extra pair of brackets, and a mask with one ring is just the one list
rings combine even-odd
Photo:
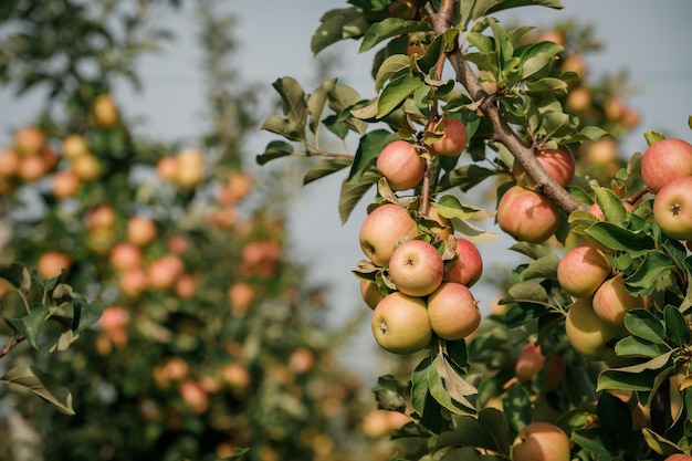
[[(598, 76), (627, 71), (629, 83), (638, 88), (628, 103), (640, 112), (641, 118), (632, 134), (622, 139), (626, 156), (643, 151), (643, 133), (649, 129), (692, 140), (688, 127), (688, 117), (692, 115), (692, 61), (689, 55), (692, 2), (563, 0), (563, 10), (531, 7), (503, 12), (500, 19), (537, 27), (565, 20), (594, 25), (604, 50), (587, 56), (589, 73)], [(308, 92), (316, 87), (311, 36), (325, 11), (348, 7), (345, 0), (228, 1), (226, 6), (238, 15), (234, 30), (239, 41), (238, 72), (244, 81), (263, 88), (268, 97), (275, 96), (272, 82), (285, 75), (295, 77)], [(184, 10), (166, 20), (167, 25), (176, 31), (177, 39), (165, 46), (162, 53), (140, 61), (143, 92), (138, 93), (128, 85), (115, 90), (116, 101), (127, 114), (141, 117), (138, 130), (147, 137), (192, 142), (203, 129), (201, 56), (192, 19), (193, 14)], [(339, 43), (333, 50), (342, 65), (335, 70), (337, 74), (331, 76), (338, 76), (340, 83), (354, 86), (365, 97), (371, 97), (371, 52), (356, 55), (355, 41)], [(36, 115), (35, 101), (36, 97), (15, 101), (7, 91), (0, 90), (0, 146), (9, 143), (11, 128), (31, 123)], [(272, 139), (275, 138), (259, 130), (250, 137), (245, 153), (249, 165), (258, 168), (252, 165), (253, 157)], [(357, 235), (368, 197), (356, 208), (350, 220), (342, 226), (337, 212), (338, 187), (339, 180), (336, 179), (305, 187), (292, 206), (290, 226), (294, 256), (311, 265), (315, 281), (331, 287), (334, 322), (367, 308), (359, 298), (357, 281), (350, 271), (363, 258)], [(492, 223), (483, 227), (496, 230)], [(487, 272), (494, 270), (493, 261), (507, 259), (506, 249), (512, 243), (501, 238), (481, 247)], [(496, 296), (482, 283), (472, 291), (482, 310), (487, 308)], [(358, 343), (374, 345), (368, 329), (369, 325), (364, 324), (363, 342)], [(359, 364), (363, 365), (361, 362)]]

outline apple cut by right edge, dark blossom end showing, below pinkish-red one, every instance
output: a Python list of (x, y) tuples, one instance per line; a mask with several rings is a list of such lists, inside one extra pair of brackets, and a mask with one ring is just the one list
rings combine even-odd
[(671, 239), (692, 240), (692, 176), (675, 178), (659, 190), (653, 219)]

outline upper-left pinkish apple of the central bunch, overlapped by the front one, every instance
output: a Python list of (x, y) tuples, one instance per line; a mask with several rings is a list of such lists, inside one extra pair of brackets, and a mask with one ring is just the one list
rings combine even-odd
[(360, 227), (360, 249), (375, 265), (389, 263), (395, 247), (405, 239), (418, 235), (418, 227), (409, 212), (395, 203), (377, 207)]

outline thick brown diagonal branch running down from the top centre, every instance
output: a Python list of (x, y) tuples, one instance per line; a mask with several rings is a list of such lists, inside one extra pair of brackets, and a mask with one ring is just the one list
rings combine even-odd
[[(443, 34), (451, 28), (451, 18), (457, 0), (442, 0), (438, 12), (431, 11), (432, 28), (437, 35)], [(461, 50), (457, 48), (448, 55), (449, 62), (454, 69), (457, 80), (466, 88), (473, 101), (481, 101), (481, 112), (487, 117), (494, 132), (494, 139), (503, 144), (520, 163), (526, 175), (535, 182), (534, 189), (547, 196), (567, 214), (576, 210), (586, 210), (586, 206), (575, 200), (543, 166), (538, 163), (533, 147), (525, 145), (516, 133), (502, 117), (495, 98), (489, 95), (481, 86), (471, 66), (463, 60)]]

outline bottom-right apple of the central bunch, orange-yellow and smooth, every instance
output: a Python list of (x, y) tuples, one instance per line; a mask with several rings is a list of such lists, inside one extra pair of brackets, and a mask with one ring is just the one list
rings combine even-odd
[(461, 283), (442, 283), (428, 296), (428, 317), (432, 331), (447, 340), (465, 338), (481, 324), (478, 302)]

